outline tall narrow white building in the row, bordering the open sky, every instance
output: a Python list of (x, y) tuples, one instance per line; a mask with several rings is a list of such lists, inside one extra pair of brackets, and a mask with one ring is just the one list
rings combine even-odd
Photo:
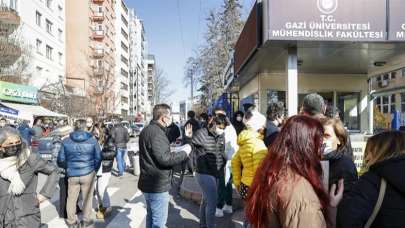
[(142, 115), (150, 111), (147, 93), (147, 48), (145, 28), (134, 10), (130, 11), (130, 115)]

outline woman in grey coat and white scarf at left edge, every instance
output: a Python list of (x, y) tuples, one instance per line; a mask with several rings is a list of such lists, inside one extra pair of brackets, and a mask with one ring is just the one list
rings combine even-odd
[[(48, 176), (37, 193), (38, 174)], [(39, 228), (39, 204), (56, 192), (59, 171), (31, 150), (18, 131), (0, 129), (0, 227)]]

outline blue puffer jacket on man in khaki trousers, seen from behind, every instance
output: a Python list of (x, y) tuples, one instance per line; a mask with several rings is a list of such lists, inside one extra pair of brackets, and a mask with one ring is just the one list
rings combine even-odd
[(100, 145), (89, 132), (72, 132), (69, 138), (62, 142), (58, 165), (66, 170), (68, 177), (97, 172), (101, 165)]

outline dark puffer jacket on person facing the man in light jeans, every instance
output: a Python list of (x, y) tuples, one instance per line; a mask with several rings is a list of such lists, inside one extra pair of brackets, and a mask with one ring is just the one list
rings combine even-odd
[(193, 136), (193, 160), (196, 172), (214, 177), (223, 175), (226, 163), (225, 139), (202, 128)]

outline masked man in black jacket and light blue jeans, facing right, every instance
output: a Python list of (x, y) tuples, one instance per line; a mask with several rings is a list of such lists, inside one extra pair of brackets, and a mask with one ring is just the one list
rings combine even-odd
[[(141, 175), (138, 188), (143, 192), (146, 201), (147, 228), (165, 227), (169, 209), (171, 169), (191, 153), (189, 144), (182, 147), (181, 151), (170, 151), (166, 130), (171, 123), (170, 106), (156, 105), (153, 108), (153, 120), (139, 136)], [(185, 134), (192, 137), (191, 126), (186, 127)]]

